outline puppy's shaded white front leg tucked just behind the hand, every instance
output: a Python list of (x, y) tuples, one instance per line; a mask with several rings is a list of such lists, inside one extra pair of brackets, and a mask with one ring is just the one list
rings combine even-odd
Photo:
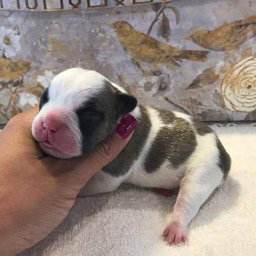
[(116, 190), (124, 181), (124, 177), (114, 177), (106, 172), (99, 171), (80, 190), (78, 196), (92, 196)]

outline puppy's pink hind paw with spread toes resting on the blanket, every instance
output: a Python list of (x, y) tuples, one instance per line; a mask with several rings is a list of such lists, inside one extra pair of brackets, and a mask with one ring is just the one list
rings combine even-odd
[(173, 221), (168, 225), (163, 233), (165, 241), (168, 244), (180, 244), (185, 243), (188, 240), (186, 228), (177, 221)]

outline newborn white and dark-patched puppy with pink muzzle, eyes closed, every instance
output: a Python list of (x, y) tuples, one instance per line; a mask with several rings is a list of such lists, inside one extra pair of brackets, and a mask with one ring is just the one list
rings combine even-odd
[(113, 191), (122, 182), (179, 187), (163, 233), (168, 243), (187, 241), (189, 222), (230, 169), (230, 157), (210, 127), (176, 111), (137, 106), (132, 95), (92, 70), (71, 68), (55, 76), (39, 109), (33, 136), (47, 154), (59, 158), (88, 153), (115, 132), (126, 113), (137, 118), (127, 146), (79, 195)]

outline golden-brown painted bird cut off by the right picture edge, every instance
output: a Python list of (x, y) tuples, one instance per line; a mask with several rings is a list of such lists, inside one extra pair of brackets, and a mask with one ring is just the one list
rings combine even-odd
[(195, 30), (187, 40), (213, 51), (231, 51), (256, 36), (256, 15), (226, 23), (214, 30)]

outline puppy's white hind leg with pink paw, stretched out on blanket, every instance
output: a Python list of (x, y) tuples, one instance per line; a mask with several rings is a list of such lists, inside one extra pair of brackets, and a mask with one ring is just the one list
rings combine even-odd
[(191, 170), (180, 182), (180, 190), (174, 205), (170, 224), (163, 236), (169, 244), (187, 241), (187, 226), (199, 208), (217, 188), (223, 178), (218, 166), (209, 169)]

